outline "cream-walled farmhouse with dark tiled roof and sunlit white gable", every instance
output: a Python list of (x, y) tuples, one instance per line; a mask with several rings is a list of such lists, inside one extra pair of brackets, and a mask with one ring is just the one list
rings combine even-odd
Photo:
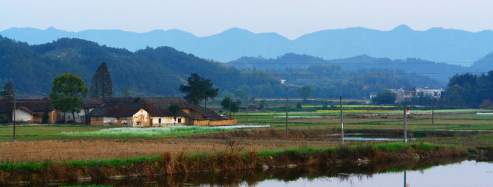
[[(178, 105), (176, 121), (168, 110)], [(220, 114), (188, 103), (177, 97), (105, 98), (103, 104), (90, 113), (90, 124), (94, 126), (160, 127), (167, 125), (234, 125), (236, 119), (227, 119)]]

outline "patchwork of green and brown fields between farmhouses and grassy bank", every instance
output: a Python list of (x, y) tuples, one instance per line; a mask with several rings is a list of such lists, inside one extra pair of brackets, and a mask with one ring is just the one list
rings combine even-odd
[[(203, 153), (239, 148), (255, 151), (286, 149), (327, 149), (340, 147), (338, 138), (326, 135), (340, 132), (339, 111), (290, 112), (286, 136), (286, 112), (238, 113), (244, 125), (270, 125), (255, 129), (181, 127), (181, 129), (115, 128), (69, 125), (20, 125), (16, 142), (12, 126), (0, 127), (0, 162), (45, 162), (127, 158), (170, 153)], [(414, 142), (460, 147), (493, 145), (493, 115), (486, 110), (412, 111), (407, 118), (409, 136)], [(316, 116), (316, 118), (307, 118)], [(344, 112), (348, 134), (402, 135), (401, 111), (382, 110)], [(416, 137), (413, 137), (416, 136)], [(417, 137), (419, 136), (419, 137)], [(338, 136), (335, 136), (338, 137)], [(346, 140), (346, 145), (375, 145), (381, 142)]]

